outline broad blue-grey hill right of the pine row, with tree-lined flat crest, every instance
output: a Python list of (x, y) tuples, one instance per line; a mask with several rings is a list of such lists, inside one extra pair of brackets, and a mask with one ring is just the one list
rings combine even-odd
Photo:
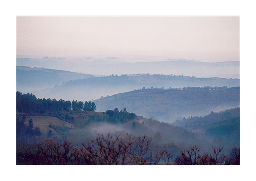
[(188, 116), (240, 107), (240, 87), (140, 89), (94, 100), (99, 111), (126, 107), (135, 114), (174, 122)]

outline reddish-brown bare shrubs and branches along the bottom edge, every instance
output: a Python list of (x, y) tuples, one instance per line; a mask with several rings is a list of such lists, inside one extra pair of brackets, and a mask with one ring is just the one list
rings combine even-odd
[(16, 152), (16, 165), (240, 165), (240, 148), (219, 156), (223, 147), (213, 148), (213, 155), (201, 155), (194, 146), (173, 158), (168, 146), (128, 134), (99, 134), (80, 147), (48, 138), (35, 145), (17, 145), (23, 150)]

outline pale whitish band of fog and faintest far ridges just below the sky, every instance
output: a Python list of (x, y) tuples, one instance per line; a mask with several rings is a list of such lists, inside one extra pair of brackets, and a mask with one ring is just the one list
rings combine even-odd
[(199, 62), (172, 60), (168, 57), (16, 58), (16, 66), (45, 67), (94, 75), (150, 73), (240, 78), (240, 62)]

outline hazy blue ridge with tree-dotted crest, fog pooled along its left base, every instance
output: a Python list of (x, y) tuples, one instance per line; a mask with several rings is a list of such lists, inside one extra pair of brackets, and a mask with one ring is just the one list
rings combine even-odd
[(183, 87), (237, 87), (238, 79), (196, 78), (189, 76), (132, 74), (93, 77), (82, 80), (68, 81), (63, 85), (43, 91), (34, 91), (37, 97), (56, 98), (65, 100), (95, 100), (101, 96), (112, 96), (121, 92), (147, 88), (183, 88)]

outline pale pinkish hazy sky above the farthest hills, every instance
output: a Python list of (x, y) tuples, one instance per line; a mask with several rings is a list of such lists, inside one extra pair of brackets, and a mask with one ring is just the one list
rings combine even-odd
[(16, 54), (240, 61), (240, 17), (16, 16)]

